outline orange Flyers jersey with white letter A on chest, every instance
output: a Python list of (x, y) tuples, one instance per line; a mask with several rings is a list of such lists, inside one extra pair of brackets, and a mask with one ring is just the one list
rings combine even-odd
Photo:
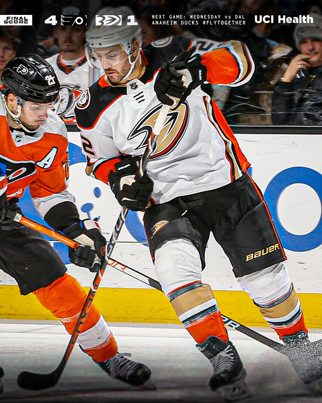
[(55, 204), (69, 200), (68, 140), (64, 123), (48, 111), (48, 119), (34, 135), (9, 129), (6, 109), (0, 101), (0, 161), (6, 164), (8, 199), (21, 197), (29, 186), (42, 216)]

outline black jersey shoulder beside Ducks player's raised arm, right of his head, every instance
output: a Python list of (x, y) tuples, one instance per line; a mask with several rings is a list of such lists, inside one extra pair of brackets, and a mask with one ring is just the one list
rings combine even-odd
[(187, 50), (191, 42), (191, 39), (183, 36), (171, 36), (152, 42), (143, 49), (147, 67), (140, 80), (144, 83), (151, 80), (162, 64), (173, 60), (182, 50)]

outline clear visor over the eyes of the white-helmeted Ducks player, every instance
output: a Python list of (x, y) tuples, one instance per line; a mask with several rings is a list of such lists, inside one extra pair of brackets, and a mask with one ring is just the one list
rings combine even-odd
[(109, 69), (129, 58), (128, 54), (124, 57), (124, 50), (121, 47), (114, 46), (112, 48), (96, 49), (99, 49), (99, 52), (91, 48), (88, 43), (85, 44), (85, 54), (90, 66), (97, 67), (98, 69)]

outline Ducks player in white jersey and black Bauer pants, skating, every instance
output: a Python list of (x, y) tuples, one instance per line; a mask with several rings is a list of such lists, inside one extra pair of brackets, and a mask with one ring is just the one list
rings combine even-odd
[[(247, 83), (254, 63), (238, 41), (168, 37), (141, 50), (140, 28), (125, 24), (96, 26), (87, 33), (87, 58), (103, 67), (105, 76), (81, 94), (75, 109), (86, 172), (109, 184), (122, 206), (145, 209), (155, 272), (197, 348), (213, 365), (211, 388), (245, 397), (246, 371), (213, 292), (201, 280), (210, 232), (280, 339), (302, 349), (309, 343), (283, 247), (247, 172), (250, 163), (202, 89), (205, 81)], [(191, 81), (187, 87), (183, 74)], [(128, 181), (162, 104), (173, 109), (146, 172)]]

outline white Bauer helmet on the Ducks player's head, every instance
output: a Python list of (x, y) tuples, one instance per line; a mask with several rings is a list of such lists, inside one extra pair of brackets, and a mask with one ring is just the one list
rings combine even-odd
[[(85, 53), (87, 60), (91, 67), (101, 68), (99, 60), (94, 55), (93, 48), (107, 48), (109, 46), (120, 45), (124, 52), (128, 55), (130, 62), (130, 71), (126, 75), (127, 78), (134, 69), (134, 65), (138, 60), (139, 53), (134, 61), (131, 61), (131, 55), (133, 53), (133, 40), (136, 39), (140, 42), (140, 49), (142, 49), (142, 33), (141, 27), (137, 23), (136, 19), (128, 20), (128, 16), (134, 16), (134, 12), (127, 6), (118, 8), (104, 7), (97, 13), (98, 16), (103, 17), (101, 25), (96, 25), (96, 16), (91, 21), (89, 30), (86, 34), (87, 44), (85, 45)], [(122, 25), (103, 25), (108, 22), (112, 22), (110, 16), (121, 16)], [(119, 23), (120, 21), (115, 21)], [(133, 23), (137, 23), (134, 25)], [(124, 59), (125, 60), (125, 59)], [(121, 60), (122, 61), (122, 60)]]

